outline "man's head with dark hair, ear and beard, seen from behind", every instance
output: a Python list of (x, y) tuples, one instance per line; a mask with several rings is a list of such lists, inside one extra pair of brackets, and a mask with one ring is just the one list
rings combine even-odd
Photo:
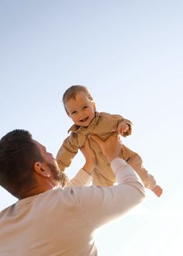
[(0, 140), (0, 185), (12, 195), (23, 198), (29, 192), (45, 191), (61, 176), (52, 154), (28, 131), (12, 130)]

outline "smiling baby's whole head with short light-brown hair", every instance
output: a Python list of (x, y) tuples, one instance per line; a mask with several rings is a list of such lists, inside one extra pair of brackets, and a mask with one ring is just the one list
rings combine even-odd
[(95, 102), (88, 91), (82, 85), (73, 85), (64, 92), (64, 109), (77, 126), (87, 127), (95, 118)]

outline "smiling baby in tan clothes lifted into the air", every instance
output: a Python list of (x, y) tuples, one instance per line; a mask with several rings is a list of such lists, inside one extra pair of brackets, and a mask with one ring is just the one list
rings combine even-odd
[[(84, 146), (87, 137), (97, 159), (92, 172), (93, 185), (114, 185), (116, 178), (111, 166), (98, 144), (91, 140), (91, 136), (95, 134), (101, 140), (106, 140), (113, 132), (117, 132), (126, 137), (132, 133), (133, 124), (123, 116), (97, 112), (91, 93), (82, 85), (73, 85), (67, 88), (63, 95), (63, 103), (64, 109), (74, 125), (68, 130), (71, 134), (64, 140), (57, 153), (56, 159), (60, 170), (64, 171), (71, 164), (78, 149)], [(143, 161), (139, 154), (123, 144), (119, 157), (133, 167), (147, 189), (151, 189), (158, 197), (161, 196), (161, 187), (156, 185), (154, 176), (148, 174), (147, 170), (143, 168)]]

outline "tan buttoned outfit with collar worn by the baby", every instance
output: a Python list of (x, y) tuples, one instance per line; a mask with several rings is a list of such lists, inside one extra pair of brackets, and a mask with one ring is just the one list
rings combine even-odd
[[(96, 144), (94, 140), (91, 140), (91, 135), (95, 134), (101, 140), (106, 140), (117, 130), (117, 126), (123, 120), (126, 120), (126, 123), (129, 125), (128, 133), (124, 134), (124, 137), (126, 137), (132, 133), (132, 123), (128, 119), (124, 119), (123, 116), (112, 115), (107, 112), (95, 112), (95, 118), (88, 127), (71, 126), (68, 130), (68, 132), (71, 132), (71, 135), (64, 140), (64, 143), (57, 153), (56, 159), (60, 170), (64, 171), (64, 169), (71, 164), (75, 154), (78, 153), (78, 149), (84, 146), (85, 139), (88, 137), (90, 146), (95, 151), (95, 156), (97, 158), (97, 163), (92, 173), (93, 185), (114, 185), (116, 183), (116, 178), (109, 161), (107, 161), (105, 155), (102, 154), (98, 144)], [(143, 168), (143, 161), (136, 152), (129, 150), (129, 148), (123, 144), (119, 157), (122, 157), (133, 167), (142, 179), (145, 187), (154, 187), (154, 177), (149, 175), (147, 170)]]

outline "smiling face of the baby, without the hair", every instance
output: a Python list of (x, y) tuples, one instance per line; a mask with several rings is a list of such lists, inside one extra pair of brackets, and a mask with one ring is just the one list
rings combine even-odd
[(65, 107), (77, 126), (87, 127), (95, 117), (94, 104), (88, 99), (85, 92), (78, 92), (75, 99), (68, 99)]

